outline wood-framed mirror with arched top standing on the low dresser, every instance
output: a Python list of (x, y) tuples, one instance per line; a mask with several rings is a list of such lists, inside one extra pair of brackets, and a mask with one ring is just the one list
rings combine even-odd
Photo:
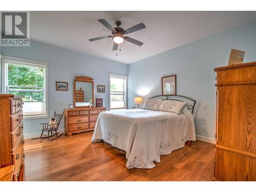
[(93, 105), (93, 79), (85, 76), (75, 77), (74, 106), (75, 108), (90, 107)]

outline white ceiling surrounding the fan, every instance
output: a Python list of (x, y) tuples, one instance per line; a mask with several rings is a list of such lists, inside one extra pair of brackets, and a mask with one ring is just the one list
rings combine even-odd
[[(121, 44), (121, 52), (112, 51), (112, 38), (89, 41), (111, 35), (97, 20), (103, 18), (113, 27), (122, 22), (127, 29), (143, 22), (145, 29), (127, 36), (142, 41)], [(256, 20), (256, 11), (31, 11), (31, 40), (104, 59), (132, 63), (174, 49), (189, 42), (245, 25)]]

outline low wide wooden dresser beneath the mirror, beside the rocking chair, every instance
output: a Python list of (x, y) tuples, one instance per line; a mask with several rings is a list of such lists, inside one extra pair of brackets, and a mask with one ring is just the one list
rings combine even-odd
[(65, 109), (65, 133), (81, 133), (94, 130), (98, 115), (106, 108)]

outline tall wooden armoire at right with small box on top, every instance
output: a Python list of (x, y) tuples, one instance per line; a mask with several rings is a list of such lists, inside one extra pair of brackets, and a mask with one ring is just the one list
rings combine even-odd
[(256, 181), (256, 62), (216, 68), (215, 181)]

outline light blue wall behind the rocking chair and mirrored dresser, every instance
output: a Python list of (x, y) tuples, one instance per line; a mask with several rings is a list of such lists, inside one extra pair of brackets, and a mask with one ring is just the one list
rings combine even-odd
[[(103, 98), (103, 106), (109, 108), (109, 73), (127, 75), (128, 66), (122, 63), (89, 56), (66, 49), (30, 42), (29, 47), (2, 47), (2, 55), (49, 62), (49, 116), (54, 111), (61, 113), (73, 104), (73, 80), (75, 76), (94, 79), (94, 98)], [(56, 91), (55, 81), (69, 83), (68, 91)], [(106, 86), (105, 93), (97, 93), (97, 84)], [(34, 134), (41, 130), (39, 123), (49, 119), (24, 121), (24, 134)], [(64, 119), (59, 129), (64, 127)]]

